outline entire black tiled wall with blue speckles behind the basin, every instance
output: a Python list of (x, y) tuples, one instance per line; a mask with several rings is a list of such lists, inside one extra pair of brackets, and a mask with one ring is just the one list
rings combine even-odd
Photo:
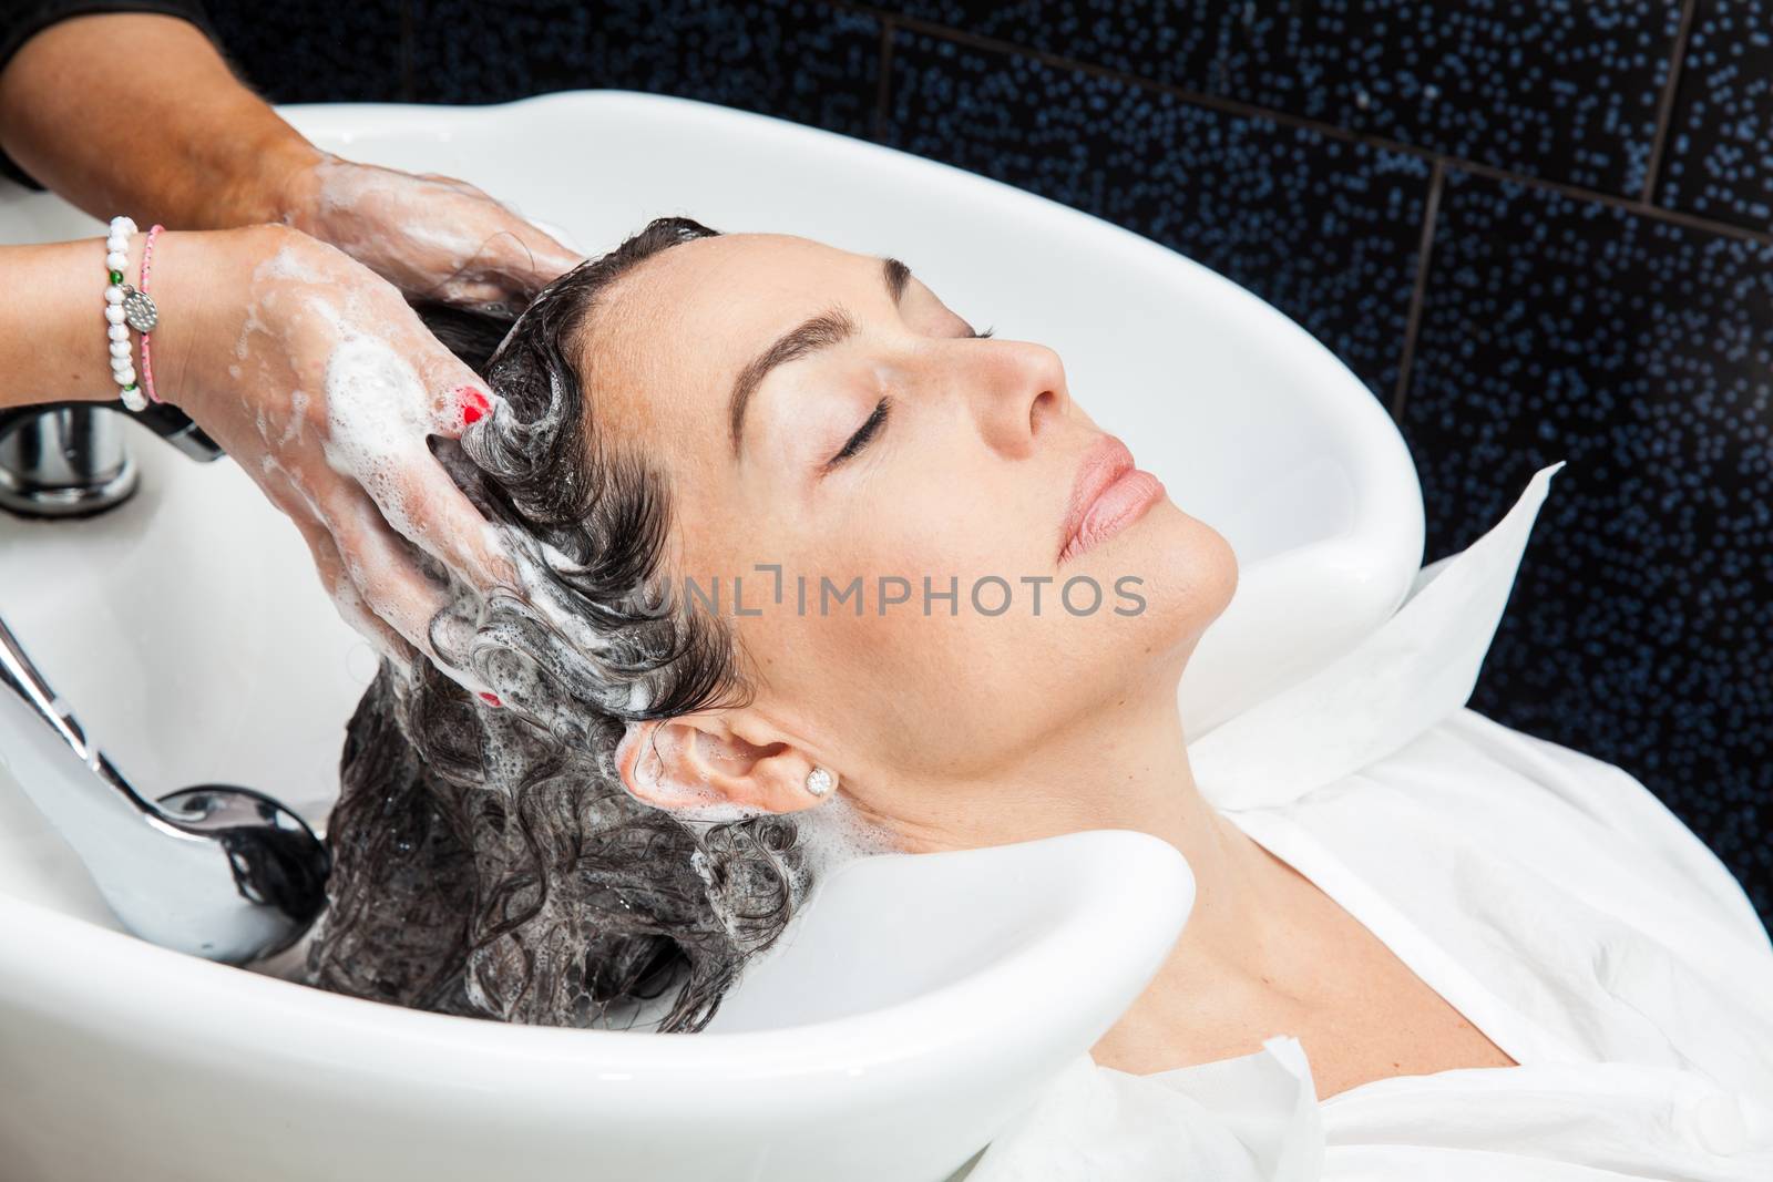
[(1773, 918), (1773, 0), (211, 11), (282, 101), (654, 90), (1147, 234), (1395, 409), (1431, 558), (1569, 459), (1472, 705), (1631, 771)]

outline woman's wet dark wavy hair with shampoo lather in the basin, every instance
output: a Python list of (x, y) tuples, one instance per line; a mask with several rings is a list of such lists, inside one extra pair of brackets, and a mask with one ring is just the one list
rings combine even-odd
[(578, 369), (610, 285), (711, 234), (658, 218), (514, 323), (420, 308), (509, 404), (438, 457), (541, 576), (465, 595), (431, 627), (502, 709), (426, 659), (383, 661), (358, 702), (312, 984), (447, 1014), (693, 1031), (805, 897), (793, 820), (684, 820), (633, 797), (613, 764), (628, 721), (748, 695), (723, 620), (688, 601), (660, 610), (667, 484), (599, 434), (599, 374)]

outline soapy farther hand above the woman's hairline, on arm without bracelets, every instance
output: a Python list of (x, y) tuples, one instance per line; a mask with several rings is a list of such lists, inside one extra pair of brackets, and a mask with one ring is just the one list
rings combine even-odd
[(518, 312), (583, 261), (466, 181), (319, 154), (284, 191), (289, 225), (415, 298)]

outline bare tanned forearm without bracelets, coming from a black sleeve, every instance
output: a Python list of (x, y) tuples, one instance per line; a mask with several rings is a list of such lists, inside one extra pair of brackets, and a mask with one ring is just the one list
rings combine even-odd
[(25, 43), (0, 73), (0, 147), (96, 218), (168, 229), (282, 220), (321, 156), (193, 25), (140, 12)]

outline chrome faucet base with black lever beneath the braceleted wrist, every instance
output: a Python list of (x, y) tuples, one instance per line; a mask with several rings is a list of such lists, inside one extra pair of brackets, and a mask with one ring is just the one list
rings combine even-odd
[(90, 517), (122, 505), (138, 484), (126, 418), (191, 459), (222, 455), (215, 439), (165, 402), (131, 415), (98, 402), (0, 411), (0, 509), (25, 517)]

